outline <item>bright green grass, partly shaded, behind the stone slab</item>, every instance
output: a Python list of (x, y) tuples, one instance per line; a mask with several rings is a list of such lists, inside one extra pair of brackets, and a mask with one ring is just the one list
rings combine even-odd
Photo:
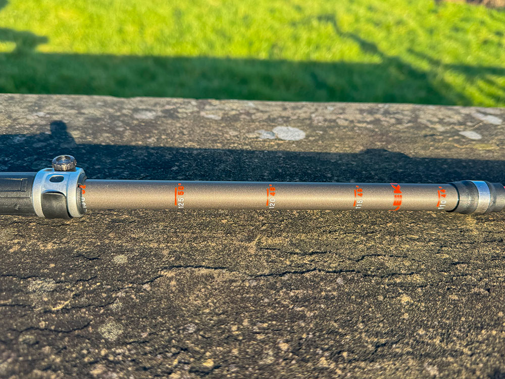
[(0, 0), (0, 91), (505, 106), (505, 11), (432, 0)]

